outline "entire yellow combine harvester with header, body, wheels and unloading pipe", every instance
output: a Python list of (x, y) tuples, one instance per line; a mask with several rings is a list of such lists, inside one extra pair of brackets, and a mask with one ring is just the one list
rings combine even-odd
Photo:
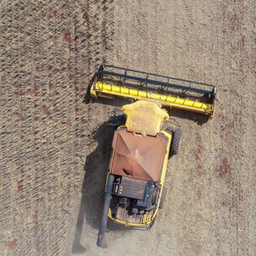
[[(90, 93), (94, 97), (136, 100), (125, 105), (115, 120), (112, 155), (97, 245), (107, 247), (107, 218), (125, 228), (149, 230), (167, 187), (169, 155), (178, 153), (182, 130), (162, 130), (169, 115), (162, 106), (214, 115), (216, 86), (145, 72), (101, 65)], [(123, 116), (122, 116), (123, 114)], [(124, 118), (125, 117), (125, 118)]]

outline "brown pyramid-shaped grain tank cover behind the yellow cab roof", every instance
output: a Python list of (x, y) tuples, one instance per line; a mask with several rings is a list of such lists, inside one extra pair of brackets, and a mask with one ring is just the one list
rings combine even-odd
[(131, 132), (115, 132), (110, 173), (147, 181), (159, 181), (167, 139), (142, 137)]

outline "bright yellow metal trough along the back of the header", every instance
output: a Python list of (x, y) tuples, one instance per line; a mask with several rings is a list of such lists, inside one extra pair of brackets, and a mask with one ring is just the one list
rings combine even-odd
[(156, 92), (139, 90), (136, 88), (128, 88), (118, 85), (108, 85), (100, 81), (94, 81), (90, 93), (94, 97), (116, 96), (122, 98), (131, 98), (135, 100), (149, 100), (151, 102), (162, 104), (170, 108), (179, 108), (207, 114), (210, 115), (210, 118), (213, 118), (214, 115), (214, 101), (213, 104), (209, 104), (200, 102), (198, 100), (192, 100), (188, 98), (183, 99), (176, 96), (163, 95)]

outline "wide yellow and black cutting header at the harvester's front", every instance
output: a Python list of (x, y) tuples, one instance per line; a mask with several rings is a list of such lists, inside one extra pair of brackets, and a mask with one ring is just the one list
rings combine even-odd
[(94, 97), (148, 100), (166, 107), (214, 115), (215, 85), (111, 65), (100, 65), (90, 93)]

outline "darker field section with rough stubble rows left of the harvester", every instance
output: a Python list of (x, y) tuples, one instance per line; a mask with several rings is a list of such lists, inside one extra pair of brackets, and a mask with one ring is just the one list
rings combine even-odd
[(89, 133), (83, 100), (113, 34), (106, 5), (1, 3), (1, 255), (71, 252)]

